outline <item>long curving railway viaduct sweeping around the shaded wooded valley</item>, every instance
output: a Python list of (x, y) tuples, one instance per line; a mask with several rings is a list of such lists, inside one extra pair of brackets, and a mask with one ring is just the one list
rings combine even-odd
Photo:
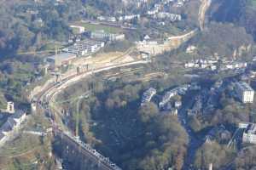
[[(50, 105), (55, 103), (55, 95), (59, 94), (62, 90), (74, 84), (75, 82), (79, 82), (79, 80), (81, 80), (82, 78), (90, 76), (91, 74), (129, 65), (147, 64), (148, 62), (150, 62), (150, 60), (137, 60), (127, 63), (121, 63), (119, 65), (110, 65), (98, 68), (96, 70), (79, 72), (77, 74), (73, 74), (72, 76), (64, 78), (63, 80), (61, 80), (61, 82), (49, 83), (49, 85), (44, 87), (38, 94), (33, 94), (34, 102), (36, 102), (39, 107), (41, 107), (46, 113), (49, 113), (50, 115), (49, 119), (50, 122), (52, 122), (53, 124), (52, 127), (55, 139), (60, 139), (61, 143), (66, 145), (67, 148), (73, 148), (72, 153), (75, 152), (79, 154), (79, 158), (81, 159), (79, 159), (79, 162), (90, 160), (94, 164), (97, 164), (100, 170), (121, 170), (120, 167), (115, 165), (107, 157), (102, 156), (102, 154), (100, 154), (98, 151), (92, 149), (89, 144), (85, 144), (78, 137), (76, 137), (72, 133), (69, 133), (66, 127), (62, 126), (62, 128), (60, 128), (62, 124), (59, 124), (58, 127), (55, 126), (55, 124), (60, 122), (56, 118), (57, 115), (60, 114), (60, 111), (58, 111), (55, 107), (51, 107)], [(77, 158), (78, 156), (73, 155), (73, 157)], [(78, 159), (73, 161), (78, 161)], [(80, 164), (83, 165), (83, 163)], [(76, 169), (84, 169), (84, 167), (76, 167)]]

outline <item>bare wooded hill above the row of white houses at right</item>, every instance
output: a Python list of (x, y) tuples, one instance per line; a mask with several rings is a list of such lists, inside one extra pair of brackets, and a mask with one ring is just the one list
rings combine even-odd
[(192, 43), (196, 44), (199, 56), (218, 54), (221, 57), (239, 59), (252, 55), (248, 47), (253, 44), (253, 37), (242, 27), (212, 22), (205, 31), (192, 40)]

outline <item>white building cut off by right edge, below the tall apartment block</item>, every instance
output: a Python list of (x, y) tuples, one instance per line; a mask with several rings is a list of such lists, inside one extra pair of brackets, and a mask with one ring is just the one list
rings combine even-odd
[(242, 134), (242, 142), (256, 144), (256, 124), (247, 123), (247, 127)]

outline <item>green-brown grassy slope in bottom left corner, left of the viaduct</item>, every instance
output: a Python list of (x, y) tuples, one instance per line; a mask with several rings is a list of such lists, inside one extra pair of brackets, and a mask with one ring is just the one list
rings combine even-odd
[[(49, 127), (49, 122), (43, 116), (30, 116), (25, 130), (43, 131)], [(11, 142), (0, 149), (0, 168), (11, 170), (54, 169), (55, 162), (49, 156), (51, 151), (50, 137), (39, 137), (28, 133), (19, 133)]]

